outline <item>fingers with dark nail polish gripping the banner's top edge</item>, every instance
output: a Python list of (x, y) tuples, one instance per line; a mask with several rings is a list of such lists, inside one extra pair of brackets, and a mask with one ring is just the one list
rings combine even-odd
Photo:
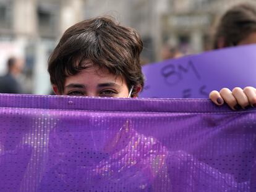
[(233, 110), (256, 107), (256, 89), (252, 86), (247, 86), (244, 90), (239, 87), (232, 91), (228, 88), (223, 88), (220, 92), (214, 90), (209, 94), (209, 98), (218, 106), (226, 102)]

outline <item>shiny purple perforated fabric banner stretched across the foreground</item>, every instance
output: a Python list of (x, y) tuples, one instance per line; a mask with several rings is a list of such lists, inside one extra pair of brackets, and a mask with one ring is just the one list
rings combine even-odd
[(256, 111), (0, 94), (0, 191), (256, 191)]

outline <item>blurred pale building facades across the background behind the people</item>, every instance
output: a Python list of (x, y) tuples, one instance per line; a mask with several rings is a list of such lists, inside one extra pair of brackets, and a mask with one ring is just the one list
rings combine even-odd
[[(62, 33), (83, 19), (111, 15), (142, 36), (145, 62), (163, 44), (203, 51), (216, 17), (243, 0), (0, 0), (0, 74), (8, 56), (25, 58), (28, 93), (50, 90), (47, 60)], [(253, 2), (253, 0), (251, 1)]]

